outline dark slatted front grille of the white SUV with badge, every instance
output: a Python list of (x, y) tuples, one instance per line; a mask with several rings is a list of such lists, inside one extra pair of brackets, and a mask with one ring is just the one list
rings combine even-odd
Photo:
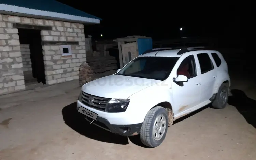
[(82, 92), (82, 103), (100, 111), (106, 110), (106, 104), (110, 101), (110, 99), (111, 98), (102, 98)]

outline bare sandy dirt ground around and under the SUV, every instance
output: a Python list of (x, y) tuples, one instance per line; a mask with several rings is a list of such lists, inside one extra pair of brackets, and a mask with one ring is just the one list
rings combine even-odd
[(73, 116), (78, 81), (0, 96), (0, 159), (253, 160), (256, 95), (251, 88), (250, 82), (233, 80), (230, 105), (207, 106), (179, 119), (163, 144), (152, 149), (138, 137), (121, 137)]

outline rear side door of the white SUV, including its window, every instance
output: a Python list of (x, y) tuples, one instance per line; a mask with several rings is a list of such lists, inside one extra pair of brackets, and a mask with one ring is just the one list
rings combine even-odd
[(201, 100), (204, 102), (209, 100), (213, 95), (213, 89), (215, 80), (217, 77), (217, 71), (214, 67), (212, 57), (209, 56), (209, 52), (198, 53), (197, 59), (200, 65), (201, 72)]

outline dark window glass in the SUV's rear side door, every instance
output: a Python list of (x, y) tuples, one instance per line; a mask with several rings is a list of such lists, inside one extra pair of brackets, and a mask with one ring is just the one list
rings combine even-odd
[(210, 70), (214, 69), (212, 60), (210, 59), (210, 57), (207, 53), (197, 54), (197, 58), (198, 58), (199, 64), (200, 64), (201, 74), (207, 73)]

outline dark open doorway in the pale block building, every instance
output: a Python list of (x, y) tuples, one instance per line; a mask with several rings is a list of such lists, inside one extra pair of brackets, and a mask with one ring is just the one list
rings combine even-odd
[(18, 31), (25, 84), (34, 81), (46, 84), (41, 30), (18, 28)]

